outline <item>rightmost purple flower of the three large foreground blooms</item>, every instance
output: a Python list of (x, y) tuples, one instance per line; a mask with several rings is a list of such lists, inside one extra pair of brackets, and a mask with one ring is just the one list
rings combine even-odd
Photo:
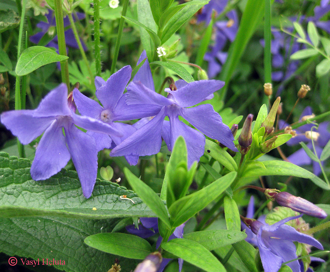
[[(117, 145), (110, 153), (111, 156), (156, 154), (160, 150), (162, 137), (168, 149), (172, 150), (175, 140), (181, 135), (187, 144), (188, 166), (190, 167), (204, 154), (205, 137), (202, 133), (237, 151), (229, 127), (222, 123), (220, 115), (214, 111), (212, 105), (204, 104), (188, 108), (223, 87), (223, 81), (200, 80), (186, 83), (178, 80), (175, 84), (176, 91), (165, 89), (165, 92), (169, 93), (166, 98), (151, 89), (153, 82), (150, 70), (141, 71), (140, 69), (139, 72), (141, 73), (137, 79), (143, 82), (134, 78), (127, 86), (126, 103), (140, 105), (141, 110), (148, 111), (146, 112), (148, 114), (151, 107), (157, 109), (157, 112), (147, 124)], [(179, 115), (202, 133), (180, 121)], [(164, 122), (165, 116), (169, 117), (169, 122)]]

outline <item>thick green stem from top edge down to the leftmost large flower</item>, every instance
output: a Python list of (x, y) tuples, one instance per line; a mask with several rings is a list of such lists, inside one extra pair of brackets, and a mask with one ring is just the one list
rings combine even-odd
[[(65, 36), (64, 36), (64, 22), (63, 22), (63, 10), (62, 1), (54, 0), (55, 5), (55, 19), (56, 19), (56, 32), (58, 39), (58, 52), (62, 56), (68, 56), (66, 52)], [(61, 74), (62, 82), (66, 83), (68, 91), (70, 90), (70, 80), (69, 80), (69, 64), (68, 60), (60, 61), (61, 64)]]

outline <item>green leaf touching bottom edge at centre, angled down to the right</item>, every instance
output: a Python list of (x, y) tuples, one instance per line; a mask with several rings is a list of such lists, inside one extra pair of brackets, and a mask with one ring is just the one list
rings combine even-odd
[(162, 248), (205, 271), (226, 272), (219, 260), (195, 241), (175, 238), (167, 243), (162, 243)]

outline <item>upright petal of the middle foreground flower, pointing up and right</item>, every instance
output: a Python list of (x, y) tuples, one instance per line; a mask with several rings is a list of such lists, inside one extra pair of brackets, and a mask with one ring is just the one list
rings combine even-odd
[(130, 65), (122, 67), (112, 74), (105, 86), (101, 86), (96, 91), (96, 97), (100, 100), (105, 109), (113, 110), (124, 93), (126, 85), (131, 78), (132, 68)]

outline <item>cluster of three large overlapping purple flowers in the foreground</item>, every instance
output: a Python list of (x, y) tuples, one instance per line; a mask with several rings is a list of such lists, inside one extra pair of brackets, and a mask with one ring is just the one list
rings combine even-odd
[[(139, 63), (145, 58), (144, 51)], [(33, 179), (47, 179), (56, 174), (71, 157), (83, 194), (88, 198), (96, 180), (97, 152), (104, 148), (112, 148), (112, 156), (125, 156), (129, 164), (136, 165), (139, 156), (159, 152), (162, 137), (172, 150), (175, 140), (183, 136), (190, 166), (204, 154), (204, 133), (237, 151), (229, 127), (222, 123), (212, 105), (191, 107), (209, 99), (224, 82), (200, 80), (186, 83), (179, 80), (177, 90), (165, 89), (168, 96), (164, 97), (155, 92), (146, 60), (124, 94), (131, 73), (132, 68), (125, 66), (107, 81), (96, 77), (96, 97), (102, 105), (85, 97), (78, 89), (74, 89), (68, 99), (66, 85), (61, 84), (41, 101), (37, 109), (1, 114), (1, 122), (23, 144), (45, 132), (32, 163)], [(76, 106), (82, 115), (75, 113)], [(200, 132), (184, 124), (179, 115)], [(165, 116), (169, 121), (164, 121)], [(142, 119), (133, 126), (118, 122), (138, 118)], [(76, 126), (86, 129), (87, 133)]]

